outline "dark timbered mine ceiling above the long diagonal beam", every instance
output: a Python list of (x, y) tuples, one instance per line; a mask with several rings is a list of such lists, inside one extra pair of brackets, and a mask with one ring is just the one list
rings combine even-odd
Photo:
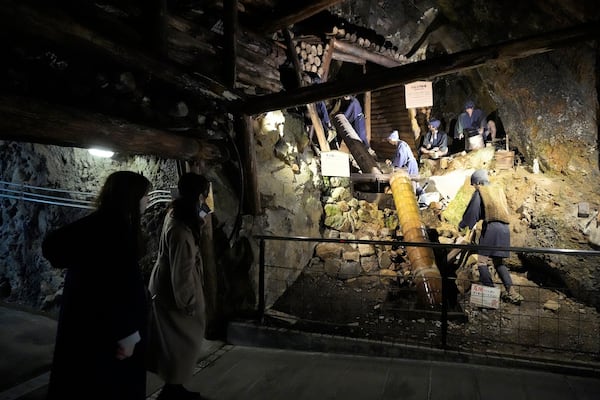
[[(595, 39), (599, 19), (593, 0), (0, 0), (0, 7), (0, 139), (186, 159), (214, 156), (203, 149), (227, 130), (230, 113), (550, 51)], [(327, 82), (303, 87), (293, 59), (299, 46), (333, 47), (332, 39), (343, 48), (337, 57), (347, 55), (364, 76), (331, 67)]]

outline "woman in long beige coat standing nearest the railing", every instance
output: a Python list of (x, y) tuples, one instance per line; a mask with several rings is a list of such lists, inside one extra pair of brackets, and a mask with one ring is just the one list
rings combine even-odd
[(159, 400), (202, 399), (183, 384), (200, 357), (206, 327), (199, 216), (209, 182), (186, 173), (178, 183), (162, 227), (158, 258), (150, 276), (152, 323), (150, 370), (165, 381)]

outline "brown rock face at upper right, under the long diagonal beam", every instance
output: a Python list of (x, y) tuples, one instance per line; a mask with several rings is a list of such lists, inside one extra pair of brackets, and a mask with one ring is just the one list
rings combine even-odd
[(504, 128), (528, 165), (597, 179), (595, 53), (585, 44), (484, 68)]

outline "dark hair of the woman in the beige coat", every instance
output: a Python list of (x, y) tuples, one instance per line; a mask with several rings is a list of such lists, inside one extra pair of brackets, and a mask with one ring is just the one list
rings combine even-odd
[(173, 218), (183, 222), (191, 230), (196, 241), (200, 239), (200, 228), (204, 220), (198, 215), (199, 197), (206, 197), (210, 189), (210, 182), (204, 176), (186, 172), (181, 175), (177, 184), (179, 197), (173, 200)]

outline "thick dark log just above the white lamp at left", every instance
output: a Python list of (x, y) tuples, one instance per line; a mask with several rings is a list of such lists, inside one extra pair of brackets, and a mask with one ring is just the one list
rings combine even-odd
[(69, 147), (104, 147), (162, 158), (200, 158), (200, 142), (103, 114), (0, 95), (0, 139)]

